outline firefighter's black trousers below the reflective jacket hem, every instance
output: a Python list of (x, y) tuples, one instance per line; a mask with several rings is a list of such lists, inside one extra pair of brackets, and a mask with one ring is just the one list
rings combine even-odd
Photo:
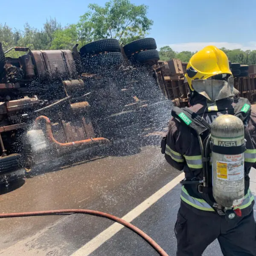
[(227, 221), (215, 212), (198, 210), (181, 201), (175, 224), (176, 256), (201, 256), (215, 239), (224, 256), (256, 256), (253, 204), (242, 210), (242, 217)]

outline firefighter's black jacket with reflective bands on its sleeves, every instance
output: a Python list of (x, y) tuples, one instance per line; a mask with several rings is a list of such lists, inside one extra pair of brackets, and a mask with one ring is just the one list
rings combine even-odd
[[(207, 99), (198, 94), (189, 109), (203, 116), (209, 124), (212, 124), (219, 115), (234, 114), (233, 107), (237, 102), (238, 98), (236, 97), (221, 99), (216, 101), (215, 108), (210, 108), (209, 104), (207, 105)], [(256, 108), (252, 107), (250, 118), (245, 123), (244, 138), (247, 148), (244, 153), (245, 193), (247, 193), (250, 184), (250, 169), (251, 167), (256, 168)], [(169, 121), (165, 158), (175, 169), (183, 170), (186, 179), (202, 178), (202, 158), (198, 138), (191, 133), (188, 126), (181, 124), (173, 117)], [(192, 189), (191, 186), (185, 187), (189, 195), (200, 198), (196, 189)]]

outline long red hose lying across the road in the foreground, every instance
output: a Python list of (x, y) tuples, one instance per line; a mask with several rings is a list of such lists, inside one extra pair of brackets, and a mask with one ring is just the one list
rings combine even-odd
[(1, 213), (0, 218), (15, 218), (15, 217), (29, 217), (29, 216), (43, 216), (43, 215), (61, 215), (61, 214), (72, 215), (75, 213), (89, 214), (89, 215), (94, 215), (94, 216), (98, 216), (98, 217), (108, 218), (112, 221), (116, 221), (119, 224), (122, 224), (123, 226), (129, 228), (133, 232), (137, 233), (146, 242), (148, 242), (148, 244), (150, 244), (151, 247), (153, 247), (154, 250), (156, 250), (160, 256), (168, 256), (168, 254), (153, 239), (151, 239), (150, 236), (145, 234), (142, 230), (135, 227), (133, 224), (129, 223), (128, 221), (123, 220), (122, 218), (118, 218), (114, 215), (111, 215), (111, 214), (108, 214), (105, 212), (99, 212), (99, 211), (89, 210), (89, 209), (62, 209), (62, 210), (49, 210), (49, 211), (39, 211), (39, 212)]

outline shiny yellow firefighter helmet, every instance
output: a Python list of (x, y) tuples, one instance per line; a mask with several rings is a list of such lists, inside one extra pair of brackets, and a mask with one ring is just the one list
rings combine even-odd
[(215, 46), (209, 45), (195, 53), (186, 67), (186, 81), (193, 91), (192, 80), (208, 79), (218, 74), (230, 74), (229, 61), (225, 52)]

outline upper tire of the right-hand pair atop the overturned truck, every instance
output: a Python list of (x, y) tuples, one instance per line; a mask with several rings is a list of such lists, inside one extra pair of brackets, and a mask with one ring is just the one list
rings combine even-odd
[(130, 44), (126, 44), (124, 47), (125, 55), (130, 56), (135, 52), (140, 52), (142, 50), (155, 50), (157, 49), (157, 44), (154, 38), (143, 38), (138, 39)]

